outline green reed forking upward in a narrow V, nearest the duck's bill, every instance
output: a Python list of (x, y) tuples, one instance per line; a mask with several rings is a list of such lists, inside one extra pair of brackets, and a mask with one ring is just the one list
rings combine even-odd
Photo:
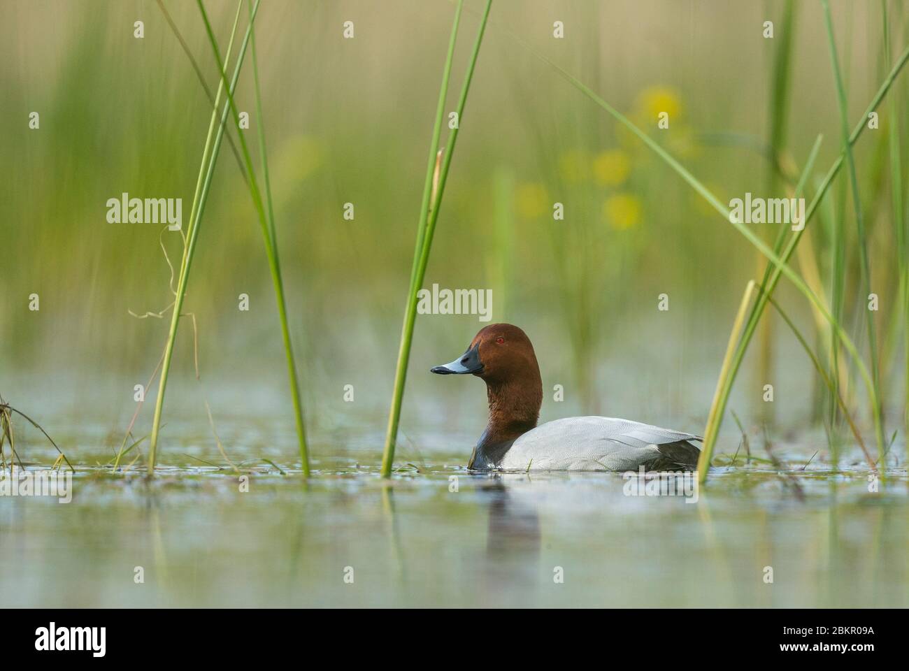
[[(461, 95), (457, 104), (457, 125), (452, 129), (449, 135), (448, 146), (445, 149), (445, 155), (442, 161), (442, 167), (438, 173), (437, 186), (433, 189), (435, 174), (435, 157), (438, 152), (439, 135), (441, 133), (442, 117), (445, 114), (445, 95), (448, 90), (448, 77), (451, 74), (451, 66), (454, 60), (454, 42), (457, 36), (458, 23), (461, 18), (463, 2), (458, 2), (454, 14), (454, 25), (452, 26), (451, 40), (448, 45), (448, 55), (445, 60), (445, 71), (442, 78), (442, 86), (439, 91), (439, 102), (436, 108), (435, 128), (433, 130), (433, 145), (429, 152), (429, 165), (426, 168), (426, 179), (424, 185), (423, 204), (420, 210), (420, 223), (417, 226), (417, 238), (414, 251), (414, 265), (411, 272), (410, 292), (407, 297), (407, 306), (405, 309), (404, 325), (401, 332), (401, 344), (398, 350), (398, 361), (395, 370), (395, 389), (392, 397), (392, 407), (388, 414), (388, 430), (385, 434), (385, 449), (382, 455), (382, 476), (390, 477), (392, 466), (395, 461), (395, 442), (397, 440), (398, 423), (401, 419), (401, 403), (404, 398), (405, 382), (407, 379), (407, 365), (410, 360), (410, 348), (414, 336), (414, 324), (416, 320), (416, 294), (420, 286), (423, 285), (423, 279), (426, 272), (426, 265), (429, 261), (429, 252), (433, 244), (433, 235), (435, 233), (435, 222), (439, 216), (439, 205), (442, 203), (442, 196), (445, 193), (445, 181), (448, 177), (448, 169), (451, 166), (452, 156), (454, 155), (454, 145), (457, 142), (458, 131), (464, 123), (464, 105), (467, 102), (467, 94), (470, 90), (470, 83), (474, 76), (477, 57), (480, 53), (480, 45), (483, 43), (483, 35), (486, 23), (489, 18), (489, 11), (493, 1), (486, 0), (483, 18), (480, 21), (480, 28), (474, 41), (474, 49), (471, 53), (470, 61), (467, 65), (467, 71), (464, 75), (464, 84), (461, 88)], [(430, 202), (430, 198), (435, 191), (435, 198)]]

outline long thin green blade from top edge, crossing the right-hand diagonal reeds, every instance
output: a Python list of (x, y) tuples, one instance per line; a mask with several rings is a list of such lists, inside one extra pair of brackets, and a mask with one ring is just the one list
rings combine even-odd
[[(862, 273), (862, 284), (864, 285), (864, 295), (871, 293), (871, 266), (868, 260), (868, 241), (864, 228), (864, 213), (862, 212), (862, 200), (858, 188), (858, 175), (855, 170), (855, 157), (852, 151), (852, 145), (849, 144), (849, 113), (846, 109), (846, 94), (843, 87), (843, 76), (840, 74), (839, 57), (836, 55), (836, 40), (834, 38), (834, 22), (830, 15), (830, 3), (827, 0), (821, 0), (824, 7), (824, 25), (827, 29), (827, 44), (830, 47), (830, 61), (834, 69), (834, 81), (836, 83), (836, 100), (840, 107), (840, 129), (843, 135), (843, 148), (846, 155), (846, 165), (849, 170), (849, 185), (852, 188), (853, 207), (855, 215), (855, 227), (859, 243), (859, 266)], [(867, 300), (867, 299), (866, 299)], [(863, 301), (864, 302), (864, 301)], [(884, 454), (884, 420), (881, 409), (881, 384), (878, 370), (877, 356), (877, 334), (874, 327), (874, 311), (864, 309), (865, 324), (868, 329), (868, 350), (871, 355), (871, 379), (874, 384), (874, 406), (872, 406), (872, 416), (874, 416), (874, 436), (877, 439), (878, 456)]]

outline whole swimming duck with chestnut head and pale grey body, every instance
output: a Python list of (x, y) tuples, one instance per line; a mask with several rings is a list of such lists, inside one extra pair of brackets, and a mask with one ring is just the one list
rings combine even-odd
[(701, 436), (616, 417), (564, 417), (537, 426), (543, 379), (534, 346), (512, 324), (480, 329), (462, 356), (430, 369), (486, 383), (489, 419), (471, 471), (691, 471)]

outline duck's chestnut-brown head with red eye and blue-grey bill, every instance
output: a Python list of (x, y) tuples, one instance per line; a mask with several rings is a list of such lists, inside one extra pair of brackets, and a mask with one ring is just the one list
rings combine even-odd
[(471, 374), (483, 378), (487, 385), (504, 385), (528, 377), (538, 380), (540, 367), (524, 331), (511, 324), (490, 324), (474, 335), (463, 355), (430, 372), (442, 376)]

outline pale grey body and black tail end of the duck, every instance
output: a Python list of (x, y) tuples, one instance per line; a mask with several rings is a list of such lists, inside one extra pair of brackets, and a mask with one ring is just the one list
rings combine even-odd
[(614, 417), (565, 417), (517, 438), (498, 464), (504, 470), (690, 470), (694, 434)]

